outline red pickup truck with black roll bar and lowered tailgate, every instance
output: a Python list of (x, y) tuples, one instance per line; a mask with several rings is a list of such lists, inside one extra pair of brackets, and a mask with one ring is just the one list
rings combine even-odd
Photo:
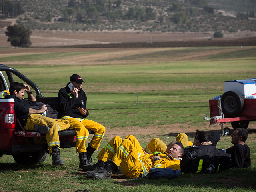
[[(3, 73), (6, 72), (6, 77)], [(57, 110), (57, 97), (42, 97), (38, 86), (30, 79), (14, 68), (0, 64), (0, 92), (9, 90), (10, 84), (14, 82), (12, 74), (20, 78), (36, 92), (36, 100), (49, 104)], [(88, 130), (93, 134), (91, 130)], [(59, 132), (60, 148), (76, 147), (76, 130), (65, 130)], [(0, 157), (12, 155), (18, 164), (42, 163), (47, 157), (48, 145), (45, 134), (36, 131), (26, 131), (16, 121), (14, 111), (14, 99), (0, 96)]]

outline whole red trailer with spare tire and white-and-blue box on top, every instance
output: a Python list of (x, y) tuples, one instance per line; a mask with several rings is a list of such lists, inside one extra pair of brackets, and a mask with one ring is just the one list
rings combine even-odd
[(222, 135), (229, 135), (232, 128), (248, 128), (250, 121), (256, 120), (256, 78), (224, 82), (224, 94), (216, 100), (209, 100), (210, 117), (204, 120), (210, 125), (221, 126)]

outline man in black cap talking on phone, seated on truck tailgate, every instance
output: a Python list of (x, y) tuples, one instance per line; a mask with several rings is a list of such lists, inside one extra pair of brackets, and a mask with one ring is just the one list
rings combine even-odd
[[(87, 97), (82, 90), (82, 78), (73, 74), (66, 87), (61, 88), (58, 93), (58, 118), (70, 122), (70, 129), (76, 130), (76, 152), (79, 153), (79, 167), (87, 169), (86, 166), (92, 165), (92, 154), (100, 146), (100, 141), (105, 134), (105, 127), (92, 120), (84, 119), (89, 115), (86, 108)], [(68, 86), (72, 83), (72, 86)], [(86, 149), (85, 141), (89, 132), (94, 131), (94, 136)]]

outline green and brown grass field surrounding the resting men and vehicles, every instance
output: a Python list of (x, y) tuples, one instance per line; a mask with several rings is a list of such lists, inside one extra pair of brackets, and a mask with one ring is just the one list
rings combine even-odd
[[(101, 147), (113, 136), (134, 134), (142, 146), (154, 137), (166, 144), (180, 132), (220, 130), (203, 120), (208, 100), (223, 94), (223, 82), (256, 77), (256, 47), (141, 49), (0, 49), (0, 64), (19, 70), (35, 82), (42, 96), (57, 96), (70, 75), (80, 74), (88, 97), (89, 119), (106, 127)], [(19, 81), (14, 77), (14, 80)], [(226, 126), (230, 126), (227, 124)], [(232, 129), (232, 128), (231, 128)], [(219, 174), (186, 174), (175, 180), (112, 180), (86, 178), (78, 168), (74, 148), (61, 149), (64, 166), (52, 166), (50, 156), (39, 165), (22, 166), (0, 158), (0, 191), (255, 191), (256, 124), (250, 122), (246, 143), (252, 168)], [(88, 138), (88, 140), (90, 140)], [(230, 136), (218, 148), (231, 146)], [(94, 153), (94, 162), (96, 155)]]

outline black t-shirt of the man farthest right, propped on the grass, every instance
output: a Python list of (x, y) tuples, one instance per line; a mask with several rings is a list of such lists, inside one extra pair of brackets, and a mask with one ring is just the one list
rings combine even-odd
[(250, 148), (246, 144), (235, 144), (226, 152), (231, 154), (233, 167), (246, 168), (251, 166)]

